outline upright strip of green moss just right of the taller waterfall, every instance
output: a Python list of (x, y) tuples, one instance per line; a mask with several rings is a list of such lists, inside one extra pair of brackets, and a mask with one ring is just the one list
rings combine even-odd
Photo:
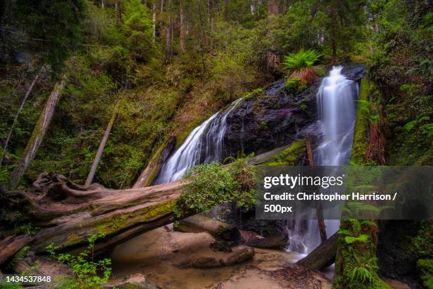
[(371, 83), (366, 77), (361, 81), (359, 91), (359, 101), (357, 107), (357, 120), (354, 128), (352, 156), (350, 159), (351, 164), (360, 165), (364, 164), (367, 142), (366, 133), (369, 125), (369, 91)]

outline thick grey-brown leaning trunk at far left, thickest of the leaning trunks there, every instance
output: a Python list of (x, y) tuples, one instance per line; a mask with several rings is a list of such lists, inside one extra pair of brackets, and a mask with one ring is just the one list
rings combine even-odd
[(13, 169), (11, 176), (11, 188), (16, 188), (16, 186), (18, 186), (18, 183), (21, 181), (21, 178), (23, 177), (25, 170), (27, 170), (28, 165), (35, 158), (37, 149), (42, 144), (42, 140), (44, 139), (48, 126), (50, 125), (52, 115), (54, 114), (54, 109), (56, 108), (57, 101), (59, 101), (65, 82), (66, 74), (63, 74), (62, 80), (54, 86), (47, 103), (45, 103), (44, 111), (42, 111), (39, 120), (37, 120), (27, 147), (25, 147), (23, 157), (16, 168)]

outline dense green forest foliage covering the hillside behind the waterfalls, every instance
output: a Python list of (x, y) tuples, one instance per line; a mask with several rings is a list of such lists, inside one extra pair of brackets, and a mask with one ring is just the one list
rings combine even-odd
[[(30, 187), (43, 171), (85, 183), (105, 133), (90, 181), (130, 188), (169, 136), (179, 146), (308, 53), (302, 65), (319, 77), (367, 64), (352, 164), (432, 164), (431, 1), (5, 0), (0, 17), (1, 188)], [(20, 218), (0, 209), (2, 220)], [(432, 224), (422, 224), (410, 246), (422, 248), (428, 287)], [(371, 267), (376, 280), (376, 259)]]

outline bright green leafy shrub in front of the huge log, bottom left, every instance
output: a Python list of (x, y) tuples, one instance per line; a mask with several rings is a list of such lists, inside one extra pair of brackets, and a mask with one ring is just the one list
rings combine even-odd
[[(103, 284), (108, 282), (111, 275), (111, 260), (93, 260), (93, 250), (95, 242), (99, 238), (105, 237), (105, 233), (98, 232), (88, 237), (87, 249), (78, 256), (71, 254), (57, 254), (59, 246), (50, 244), (47, 251), (52, 258), (59, 263), (66, 264), (74, 272), (74, 279), (61, 280), (62, 288), (66, 289), (93, 289), (103, 288)], [(100, 274), (102, 277), (100, 277)]]

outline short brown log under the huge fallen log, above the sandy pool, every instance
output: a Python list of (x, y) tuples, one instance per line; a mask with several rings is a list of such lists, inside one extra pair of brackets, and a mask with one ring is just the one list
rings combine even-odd
[(222, 239), (227, 242), (239, 242), (241, 240), (241, 233), (236, 226), (202, 215), (193, 215), (180, 220), (175, 224), (174, 229), (179, 232), (209, 232), (215, 239)]

